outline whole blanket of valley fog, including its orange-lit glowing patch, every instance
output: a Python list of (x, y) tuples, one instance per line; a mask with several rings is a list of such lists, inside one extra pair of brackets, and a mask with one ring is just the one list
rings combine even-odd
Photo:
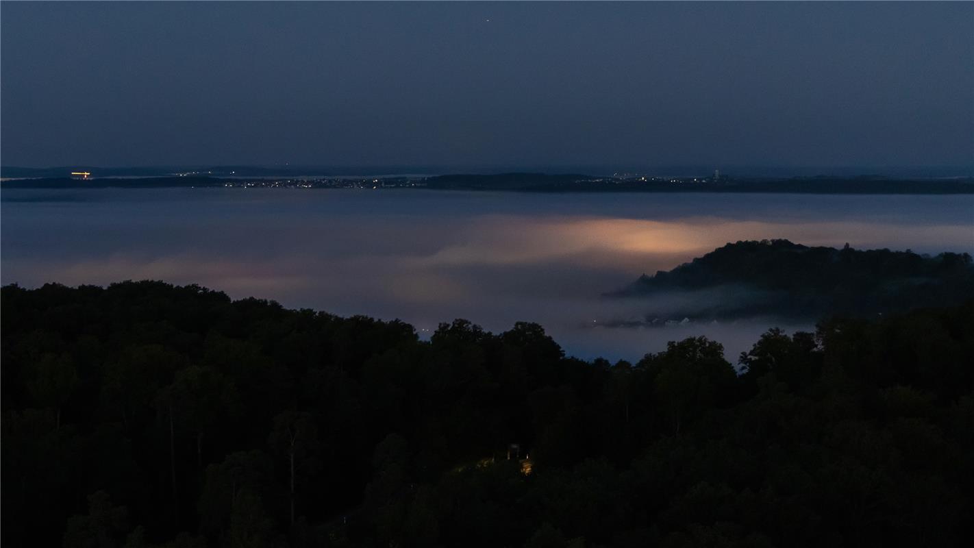
[(494, 331), (538, 321), (571, 353), (612, 359), (703, 334), (733, 360), (773, 323), (599, 327), (718, 298), (601, 294), (727, 241), (974, 250), (972, 197), (168, 189), (52, 201), (50, 191), (37, 193), (3, 193), (4, 283), (200, 283), (235, 298), (400, 317), (423, 335), (454, 317)]

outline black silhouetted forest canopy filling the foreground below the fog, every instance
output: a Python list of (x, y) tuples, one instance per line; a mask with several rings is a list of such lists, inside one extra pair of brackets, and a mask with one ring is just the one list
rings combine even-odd
[[(154, 281), (2, 289), (2, 543), (974, 537), (974, 302), (635, 364)], [(736, 365), (736, 367), (735, 367)], [(516, 444), (516, 447), (512, 447)]]

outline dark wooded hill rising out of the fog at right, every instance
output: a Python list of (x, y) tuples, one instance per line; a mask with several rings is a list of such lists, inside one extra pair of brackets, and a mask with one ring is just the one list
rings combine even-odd
[[(728, 243), (669, 272), (643, 274), (612, 297), (660, 301), (645, 318), (617, 324), (665, 324), (682, 318), (748, 316), (817, 319), (938, 307), (974, 298), (967, 253), (807, 247), (787, 239)], [(665, 310), (664, 310), (665, 309)]]

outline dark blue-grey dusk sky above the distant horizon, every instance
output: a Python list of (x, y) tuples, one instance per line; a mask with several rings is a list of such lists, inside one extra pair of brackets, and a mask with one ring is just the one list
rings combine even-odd
[(974, 164), (970, 2), (4, 2), (0, 20), (5, 165)]

